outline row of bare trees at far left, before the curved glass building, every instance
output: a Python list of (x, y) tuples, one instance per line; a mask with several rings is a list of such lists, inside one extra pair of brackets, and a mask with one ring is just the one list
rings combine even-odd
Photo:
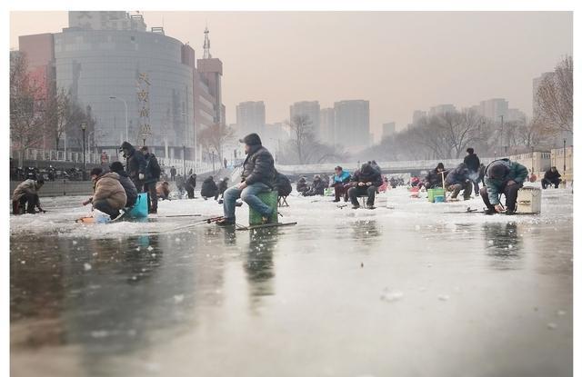
[(65, 134), (70, 147), (80, 147), (82, 123), (87, 125), (86, 132), (95, 129), (90, 107), (83, 109), (64, 89), (31, 74), (25, 55), (10, 55), (10, 140), (19, 151), (20, 164), (30, 148), (48, 144), (61, 149)]

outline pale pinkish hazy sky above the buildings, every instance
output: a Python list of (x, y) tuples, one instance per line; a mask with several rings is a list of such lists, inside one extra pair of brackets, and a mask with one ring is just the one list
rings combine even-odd
[[(289, 117), (289, 104), (370, 101), (370, 125), (398, 128), (415, 109), (457, 108), (504, 97), (531, 114), (532, 79), (572, 54), (569, 12), (143, 12), (146, 24), (189, 42), (224, 64), (226, 121), (236, 104), (263, 100), (268, 123)], [(18, 35), (58, 32), (65, 12), (13, 12)]]

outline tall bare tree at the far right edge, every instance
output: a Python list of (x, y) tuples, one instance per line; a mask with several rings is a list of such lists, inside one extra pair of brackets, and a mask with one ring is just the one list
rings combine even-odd
[(537, 88), (536, 102), (539, 117), (547, 130), (573, 132), (574, 64), (572, 56), (560, 61), (554, 74), (548, 74)]

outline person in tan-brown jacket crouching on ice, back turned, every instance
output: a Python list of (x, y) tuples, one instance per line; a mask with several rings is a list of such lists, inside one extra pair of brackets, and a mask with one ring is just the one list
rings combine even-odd
[(91, 171), (91, 181), (94, 184), (93, 196), (85, 200), (83, 205), (92, 203), (94, 209), (108, 214), (111, 220), (115, 219), (127, 202), (124, 186), (119, 182), (119, 174), (103, 173), (103, 169), (95, 167)]

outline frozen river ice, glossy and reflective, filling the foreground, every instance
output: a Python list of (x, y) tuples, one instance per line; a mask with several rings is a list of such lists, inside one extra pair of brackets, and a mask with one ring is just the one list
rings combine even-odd
[(255, 232), (165, 217), (222, 214), (202, 199), (89, 225), (44, 198), (11, 217), (12, 375), (570, 375), (571, 191), (517, 216), (408, 195), (291, 196), (297, 225)]

